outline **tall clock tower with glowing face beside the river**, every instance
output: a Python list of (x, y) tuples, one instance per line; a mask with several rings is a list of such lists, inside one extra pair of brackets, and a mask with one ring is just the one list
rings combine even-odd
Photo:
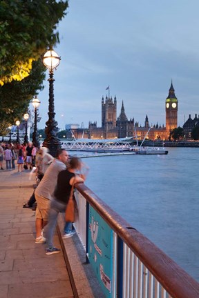
[(171, 87), (169, 89), (169, 95), (165, 102), (166, 109), (166, 130), (169, 133), (173, 128), (178, 127), (178, 99), (175, 95), (175, 90), (173, 88), (173, 83), (171, 81)]

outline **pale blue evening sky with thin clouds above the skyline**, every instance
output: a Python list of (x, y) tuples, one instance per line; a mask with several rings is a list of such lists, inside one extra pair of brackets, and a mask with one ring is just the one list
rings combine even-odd
[[(101, 102), (110, 88), (128, 119), (165, 126), (171, 80), (178, 98), (178, 126), (199, 114), (198, 0), (70, 0), (57, 30), (61, 57), (54, 72), (59, 128), (89, 121), (102, 125)], [(38, 128), (48, 120), (48, 71)]]

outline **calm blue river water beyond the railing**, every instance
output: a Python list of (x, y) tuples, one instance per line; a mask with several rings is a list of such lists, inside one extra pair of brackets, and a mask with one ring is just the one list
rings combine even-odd
[(82, 159), (85, 184), (199, 281), (199, 148), (167, 149)]

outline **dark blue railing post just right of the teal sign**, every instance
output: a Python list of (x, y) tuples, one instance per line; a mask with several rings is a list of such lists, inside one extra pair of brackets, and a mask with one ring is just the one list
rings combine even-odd
[(123, 297), (123, 241), (117, 237), (117, 298)]

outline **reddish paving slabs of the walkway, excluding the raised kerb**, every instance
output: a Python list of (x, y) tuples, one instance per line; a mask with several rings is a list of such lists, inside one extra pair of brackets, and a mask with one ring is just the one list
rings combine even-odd
[(35, 211), (22, 208), (35, 183), (29, 175), (0, 172), (0, 298), (74, 297), (63, 253), (46, 256), (35, 244)]

